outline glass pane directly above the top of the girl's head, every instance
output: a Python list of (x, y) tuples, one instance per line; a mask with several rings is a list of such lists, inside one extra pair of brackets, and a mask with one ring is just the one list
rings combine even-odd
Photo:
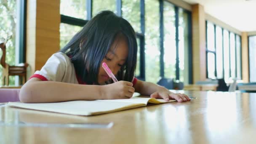
[(92, 8), (92, 15), (96, 16), (97, 13), (105, 10), (116, 11), (116, 0), (92, 0), (93, 8)]

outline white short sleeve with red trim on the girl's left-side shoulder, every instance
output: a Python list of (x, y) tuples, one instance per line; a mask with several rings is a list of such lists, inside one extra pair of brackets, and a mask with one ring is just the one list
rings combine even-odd
[(37, 77), (43, 81), (61, 82), (67, 71), (67, 62), (70, 61), (65, 53), (53, 54), (45, 63), (40, 71), (36, 71), (32, 77)]

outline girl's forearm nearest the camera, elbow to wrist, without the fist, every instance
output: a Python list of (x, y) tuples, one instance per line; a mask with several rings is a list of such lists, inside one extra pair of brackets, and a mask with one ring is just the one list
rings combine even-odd
[(85, 87), (70, 83), (41, 81), (33, 77), (22, 86), (19, 98), (21, 102), (25, 103), (84, 100), (85, 92), (88, 95), (87, 99), (101, 98), (99, 85), (87, 85)]

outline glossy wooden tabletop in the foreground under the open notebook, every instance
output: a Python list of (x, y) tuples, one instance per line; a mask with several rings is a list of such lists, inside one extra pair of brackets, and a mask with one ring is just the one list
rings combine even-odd
[(255, 144), (256, 94), (185, 91), (197, 97), (80, 117), (12, 107), (0, 108), (2, 123), (107, 123), (112, 128), (0, 126), (1, 144)]

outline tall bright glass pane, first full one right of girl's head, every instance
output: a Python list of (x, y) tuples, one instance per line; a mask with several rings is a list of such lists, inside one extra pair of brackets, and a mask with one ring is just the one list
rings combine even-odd
[(145, 79), (157, 83), (160, 77), (158, 0), (145, 0), (145, 18)]

